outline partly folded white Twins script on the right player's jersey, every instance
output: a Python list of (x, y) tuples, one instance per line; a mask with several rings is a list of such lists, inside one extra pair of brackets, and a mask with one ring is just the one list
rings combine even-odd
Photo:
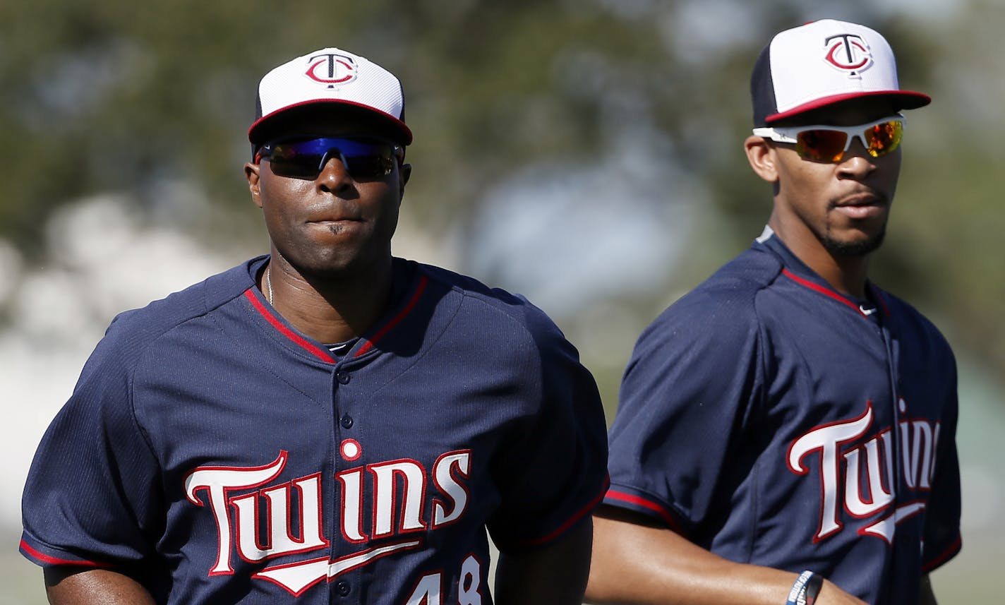
[[(899, 401), (901, 411), (906, 408)], [(860, 536), (875, 536), (892, 543), (893, 529), (901, 521), (925, 510), (925, 499), (900, 498), (893, 509), (899, 466), (910, 492), (928, 491), (936, 470), (940, 423), (925, 419), (901, 420), (864, 442), (857, 442), (872, 426), (872, 402), (858, 418), (818, 426), (792, 442), (789, 470), (807, 474), (815, 459), (820, 480), (820, 524), (813, 542), (841, 531), (842, 511), (853, 519), (878, 517), (858, 530)], [(898, 431), (893, 435), (892, 431)], [(894, 446), (895, 442), (895, 446)], [(842, 450), (843, 448), (843, 450)], [(894, 452), (899, 452), (894, 464)], [(843, 476), (842, 476), (843, 473)], [(921, 494), (919, 494), (921, 495)]]

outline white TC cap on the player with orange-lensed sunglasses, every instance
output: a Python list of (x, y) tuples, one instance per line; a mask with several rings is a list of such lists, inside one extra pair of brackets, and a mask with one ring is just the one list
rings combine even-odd
[(885, 38), (845, 21), (813, 21), (775, 35), (751, 75), (758, 127), (863, 96), (887, 100), (894, 111), (932, 102), (927, 94), (900, 89)]

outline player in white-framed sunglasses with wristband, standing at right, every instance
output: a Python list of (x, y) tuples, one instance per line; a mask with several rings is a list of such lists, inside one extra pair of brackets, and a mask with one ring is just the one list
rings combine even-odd
[(776, 35), (752, 94), (768, 226), (639, 338), (587, 598), (934, 603), (928, 573), (961, 547), (955, 361), (866, 277), (899, 112), (930, 98), (881, 35), (833, 20)]

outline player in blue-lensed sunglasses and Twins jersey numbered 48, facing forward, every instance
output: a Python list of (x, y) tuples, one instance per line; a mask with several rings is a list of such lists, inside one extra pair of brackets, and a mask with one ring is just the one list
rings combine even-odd
[(119, 316), (39, 445), (52, 603), (580, 603), (596, 385), (523, 297), (394, 257), (398, 78), (325, 48), (260, 81), (271, 253)]

